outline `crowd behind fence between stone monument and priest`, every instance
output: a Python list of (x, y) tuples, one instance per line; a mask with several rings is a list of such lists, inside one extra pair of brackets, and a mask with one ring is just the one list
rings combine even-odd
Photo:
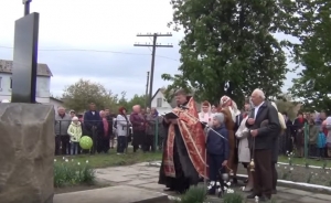
[[(97, 110), (94, 103), (89, 104), (89, 109), (83, 115), (76, 115), (74, 110), (66, 113), (64, 107), (58, 107), (55, 114), (55, 156), (108, 153), (115, 146), (117, 153), (121, 154), (130, 142), (134, 152), (138, 149), (143, 152), (154, 151), (156, 135), (162, 137), (161, 124), (162, 117), (154, 108), (145, 110), (139, 105), (132, 107), (130, 115), (124, 107), (118, 109), (118, 115), (111, 114), (109, 108)], [(92, 138), (90, 150), (81, 149), (82, 136)]]

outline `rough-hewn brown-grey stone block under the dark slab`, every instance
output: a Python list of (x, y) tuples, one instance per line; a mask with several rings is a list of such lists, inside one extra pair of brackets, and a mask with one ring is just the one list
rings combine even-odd
[(52, 203), (54, 108), (0, 105), (0, 202)]

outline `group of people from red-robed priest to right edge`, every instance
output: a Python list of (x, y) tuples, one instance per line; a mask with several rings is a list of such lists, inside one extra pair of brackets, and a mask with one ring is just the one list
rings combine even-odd
[[(297, 149), (302, 156), (300, 147), (305, 131), (313, 131), (313, 124), (319, 136), (317, 140), (309, 137), (311, 147), (319, 147), (319, 137), (323, 136), (321, 147), (330, 149), (331, 117), (321, 113), (313, 118), (318, 121), (312, 122), (312, 118), (309, 121), (300, 113), (291, 122), (286, 113), (278, 111), (274, 101), (266, 100), (260, 89), (253, 92), (242, 110), (228, 96), (223, 96), (218, 107), (204, 101), (197, 114), (193, 97), (183, 89), (174, 97), (178, 107), (172, 113), (178, 118), (163, 119), (166, 137), (159, 184), (164, 184), (167, 191), (184, 193), (203, 178), (212, 183), (209, 193), (214, 194), (215, 182), (223, 184), (227, 177), (224, 173), (231, 173), (233, 183), (237, 183), (236, 171), (241, 163), (248, 174), (244, 190), (250, 192), (247, 199), (270, 200), (271, 194), (277, 193), (276, 163), (279, 150), (282, 150), (279, 139), (288, 140), (284, 147), (288, 153)], [(308, 129), (305, 129), (305, 122), (310, 126)]]

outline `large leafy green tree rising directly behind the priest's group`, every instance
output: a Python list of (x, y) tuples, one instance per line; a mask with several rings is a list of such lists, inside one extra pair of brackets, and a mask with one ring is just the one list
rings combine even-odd
[[(183, 30), (180, 74), (163, 74), (175, 88), (193, 89), (197, 100), (228, 95), (237, 103), (255, 88), (276, 96), (284, 85), (286, 57), (274, 38), (281, 24), (279, 1), (171, 0), (173, 21)], [(239, 104), (242, 105), (242, 104)]]

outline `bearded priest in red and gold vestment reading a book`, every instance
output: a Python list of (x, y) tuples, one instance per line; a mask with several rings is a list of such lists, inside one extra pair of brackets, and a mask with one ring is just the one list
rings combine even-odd
[(178, 119), (163, 119), (166, 138), (160, 168), (159, 184), (168, 191), (184, 193), (195, 185), (199, 178), (206, 178), (205, 135), (193, 97), (183, 89), (175, 93), (175, 107), (172, 113)]

